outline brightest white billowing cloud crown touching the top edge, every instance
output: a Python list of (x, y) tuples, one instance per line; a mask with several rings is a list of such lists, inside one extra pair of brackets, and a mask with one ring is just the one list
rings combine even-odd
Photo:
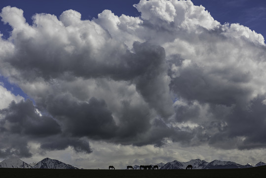
[(194, 6), (190, 0), (141, 0), (135, 7), (145, 21), (170, 30), (213, 29), (220, 24), (203, 6)]

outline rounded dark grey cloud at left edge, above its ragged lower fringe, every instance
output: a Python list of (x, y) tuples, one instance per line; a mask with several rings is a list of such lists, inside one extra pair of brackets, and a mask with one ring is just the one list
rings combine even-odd
[(0, 110), (1, 132), (30, 136), (48, 136), (61, 132), (59, 124), (51, 117), (39, 116), (31, 100), (11, 102), (8, 108)]

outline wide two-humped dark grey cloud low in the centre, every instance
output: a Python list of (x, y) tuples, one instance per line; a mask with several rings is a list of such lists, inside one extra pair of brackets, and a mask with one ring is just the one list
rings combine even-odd
[[(69, 94), (50, 95), (45, 108), (62, 123), (63, 132), (74, 137), (86, 136), (95, 140), (141, 146), (157, 144), (166, 135), (170, 135), (165, 124), (161, 125), (163, 128), (159, 128), (158, 124), (153, 127), (149, 107), (134, 106), (129, 101), (123, 101), (122, 105), (117, 124), (105, 101), (96, 98), (77, 102)], [(152, 134), (147, 136), (149, 132)], [(49, 148), (50, 145), (53, 144), (44, 144), (43, 148)], [(64, 144), (59, 145), (65, 147)]]

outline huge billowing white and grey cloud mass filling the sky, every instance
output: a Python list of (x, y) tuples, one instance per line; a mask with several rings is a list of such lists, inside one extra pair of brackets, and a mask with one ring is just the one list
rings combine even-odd
[[(104, 10), (81, 20), (67, 10), (59, 17), (35, 14), (33, 25), (21, 9), (2, 9), (13, 31), (0, 40), (0, 72), (36, 103), (5, 101), (0, 131), (11, 136), (1, 137), (2, 157), (31, 156), (29, 141), (44, 151), (85, 153), (93, 150), (91, 140), (266, 147), (263, 36), (221, 25), (190, 0), (134, 6), (140, 17)], [(21, 147), (16, 134), (23, 135)]]

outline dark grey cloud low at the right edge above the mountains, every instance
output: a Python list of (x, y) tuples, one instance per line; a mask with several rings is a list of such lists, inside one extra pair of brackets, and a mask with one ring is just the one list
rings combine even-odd
[(266, 105), (265, 95), (254, 98), (250, 105), (243, 109), (235, 107), (228, 118), (228, 136), (242, 138), (239, 149), (263, 148), (266, 144)]

